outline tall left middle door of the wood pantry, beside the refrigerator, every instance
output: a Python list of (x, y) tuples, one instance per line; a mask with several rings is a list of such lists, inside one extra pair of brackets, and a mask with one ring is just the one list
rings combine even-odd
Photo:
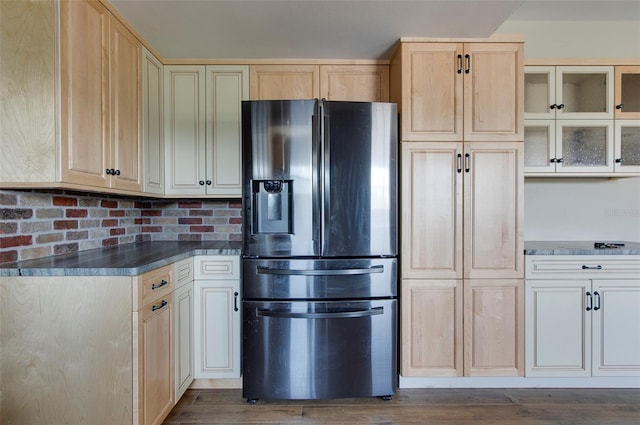
[(462, 278), (461, 155), (461, 143), (402, 144), (405, 278)]

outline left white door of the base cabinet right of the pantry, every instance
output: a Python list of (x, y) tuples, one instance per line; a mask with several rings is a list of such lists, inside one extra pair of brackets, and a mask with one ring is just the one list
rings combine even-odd
[(589, 281), (526, 282), (526, 376), (590, 376)]

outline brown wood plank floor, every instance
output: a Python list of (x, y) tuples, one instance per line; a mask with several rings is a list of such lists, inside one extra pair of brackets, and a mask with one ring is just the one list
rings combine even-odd
[(241, 390), (188, 390), (164, 425), (638, 425), (640, 389), (401, 389), (390, 401), (260, 400)]

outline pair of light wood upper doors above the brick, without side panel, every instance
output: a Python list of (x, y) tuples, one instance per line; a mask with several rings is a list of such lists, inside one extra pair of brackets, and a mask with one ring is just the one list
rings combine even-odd
[(141, 49), (100, 2), (60, 2), (62, 181), (141, 191)]

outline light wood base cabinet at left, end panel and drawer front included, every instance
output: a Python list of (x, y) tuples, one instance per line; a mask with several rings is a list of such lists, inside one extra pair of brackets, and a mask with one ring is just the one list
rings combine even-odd
[(175, 405), (171, 270), (3, 277), (0, 423), (162, 423)]

